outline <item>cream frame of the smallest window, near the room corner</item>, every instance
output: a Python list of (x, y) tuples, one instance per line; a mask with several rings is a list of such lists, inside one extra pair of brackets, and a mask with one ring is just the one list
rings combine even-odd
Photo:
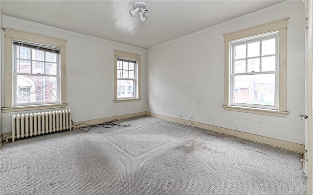
[[(134, 98), (117, 98), (117, 59), (130, 59), (137, 61), (135, 69), (135, 79), (134, 79)], [(129, 101), (140, 101), (140, 59), (141, 56), (138, 54), (131, 54), (122, 51), (114, 50), (114, 102), (129, 102)]]

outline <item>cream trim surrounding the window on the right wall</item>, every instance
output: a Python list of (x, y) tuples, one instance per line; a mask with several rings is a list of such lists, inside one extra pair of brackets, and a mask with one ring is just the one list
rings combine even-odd
[[(287, 20), (276, 20), (259, 26), (254, 26), (244, 30), (228, 33), (224, 35), (224, 110), (262, 114), (277, 117), (286, 117), (289, 114), (286, 108), (286, 78), (287, 78)], [(246, 39), (261, 34), (277, 31), (278, 37), (278, 105), (277, 110), (264, 108), (253, 108), (231, 105), (231, 59), (230, 42), (238, 39)]]

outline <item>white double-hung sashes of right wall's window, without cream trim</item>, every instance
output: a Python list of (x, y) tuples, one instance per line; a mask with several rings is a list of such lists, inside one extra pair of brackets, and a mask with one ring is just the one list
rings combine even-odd
[(231, 105), (276, 110), (278, 32), (233, 41), (230, 45)]

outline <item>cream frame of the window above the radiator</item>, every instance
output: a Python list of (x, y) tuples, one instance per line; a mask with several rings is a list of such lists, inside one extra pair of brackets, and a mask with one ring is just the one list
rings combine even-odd
[[(50, 109), (50, 108), (64, 108), (66, 107), (66, 40), (56, 39), (52, 37), (46, 37), (42, 35), (4, 29), (5, 38), (5, 85), (4, 85), (4, 107), (2, 112), (13, 111), (28, 111), (38, 109)], [(13, 42), (22, 41), (26, 43), (46, 45), (50, 47), (60, 48), (60, 102), (58, 103), (46, 103), (36, 105), (17, 105), (14, 106), (14, 64), (13, 64)]]

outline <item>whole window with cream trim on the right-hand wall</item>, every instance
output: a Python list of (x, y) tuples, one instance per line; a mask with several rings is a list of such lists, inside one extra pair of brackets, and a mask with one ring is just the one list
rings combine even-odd
[(287, 20), (224, 35), (224, 109), (286, 117)]

